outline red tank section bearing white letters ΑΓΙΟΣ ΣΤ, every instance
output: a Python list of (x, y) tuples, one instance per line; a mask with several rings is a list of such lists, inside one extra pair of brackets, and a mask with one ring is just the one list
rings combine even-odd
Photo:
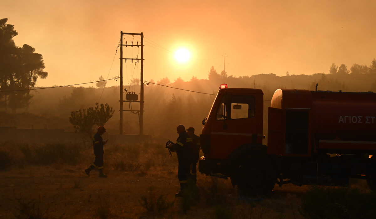
[(312, 130), (320, 140), (376, 140), (376, 93), (311, 91)]

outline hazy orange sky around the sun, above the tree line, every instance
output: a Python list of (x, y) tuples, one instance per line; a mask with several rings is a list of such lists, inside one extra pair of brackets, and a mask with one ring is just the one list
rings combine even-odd
[[(28, 44), (43, 55), (49, 76), (38, 79), (38, 86), (119, 76), (120, 50), (112, 68), (111, 63), (120, 31), (144, 33), (144, 79), (155, 82), (163, 77), (172, 82), (177, 77), (206, 79), (211, 66), (223, 70), (225, 53), (227, 74), (233, 76), (327, 74), (333, 62), (350, 69), (354, 63), (369, 66), (376, 58), (374, 0), (0, 3), (1, 18), (18, 32), (16, 45)], [(124, 40), (132, 41), (129, 37)], [(173, 59), (180, 46), (192, 53), (184, 65)], [(137, 52), (137, 47), (124, 47), (124, 57), (135, 58)], [(132, 72), (139, 78), (139, 64), (127, 61), (123, 72), (127, 85)], [(119, 81), (107, 84), (112, 85)]]

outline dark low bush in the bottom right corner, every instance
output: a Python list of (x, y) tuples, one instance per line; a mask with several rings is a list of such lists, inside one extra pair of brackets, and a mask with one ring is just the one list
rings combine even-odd
[(375, 202), (375, 193), (347, 187), (313, 187), (302, 196), (300, 211), (312, 219), (373, 218), (376, 215)]

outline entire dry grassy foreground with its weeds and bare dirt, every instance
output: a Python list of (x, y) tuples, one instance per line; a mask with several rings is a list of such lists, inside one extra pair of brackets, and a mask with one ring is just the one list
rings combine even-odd
[[(284, 185), (265, 197), (241, 197), (229, 180), (198, 175), (182, 198), (177, 157), (163, 142), (108, 145), (105, 173), (83, 173), (88, 145), (0, 144), (0, 218), (369, 218), (374, 193)], [(107, 146), (107, 145), (106, 145)], [(328, 208), (329, 207), (329, 208)]]

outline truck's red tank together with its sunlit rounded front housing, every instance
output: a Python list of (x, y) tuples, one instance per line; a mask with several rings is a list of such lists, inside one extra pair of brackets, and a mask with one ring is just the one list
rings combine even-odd
[(308, 111), (312, 138), (316, 140), (376, 141), (373, 92), (278, 89), (271, 107)]

